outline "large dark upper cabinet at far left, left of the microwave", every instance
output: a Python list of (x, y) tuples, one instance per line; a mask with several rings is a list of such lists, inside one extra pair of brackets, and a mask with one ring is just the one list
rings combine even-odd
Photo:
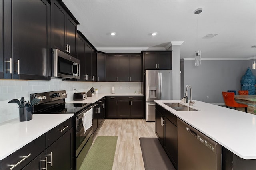
[(9, 0), (1, 1), (0, 8), (0, 78), (49, 80), (50, 4), (46, 0)]

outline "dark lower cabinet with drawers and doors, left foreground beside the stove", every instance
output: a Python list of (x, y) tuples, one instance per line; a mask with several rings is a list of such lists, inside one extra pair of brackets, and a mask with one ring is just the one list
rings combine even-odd
[[(68, 128), (63, 129), (64, 125)], [(12, 170), (74, 170), (73, 126), (71, 117), (1, 160), (0, 169), (10, 170), (10, 165), (16, 165)]]

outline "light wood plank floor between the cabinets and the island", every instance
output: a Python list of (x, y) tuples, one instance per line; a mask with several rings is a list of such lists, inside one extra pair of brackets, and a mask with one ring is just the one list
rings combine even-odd
[(145, 119), (104, 119), (96, 136), (118, 136), (112, 170), (144, 170), (140, 137), (157, 137), (155, 122)]

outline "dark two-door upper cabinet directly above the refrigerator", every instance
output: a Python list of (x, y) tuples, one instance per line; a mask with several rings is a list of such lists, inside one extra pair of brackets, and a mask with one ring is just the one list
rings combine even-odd
[(171, 70), (172, 51), (143, 51), (145, 70)]

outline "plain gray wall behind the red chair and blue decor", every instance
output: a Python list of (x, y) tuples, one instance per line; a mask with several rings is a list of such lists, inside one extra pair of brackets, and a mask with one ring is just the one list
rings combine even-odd
[[(181, 97), (186, 85), (192, 86), (192, 99), (208, 103), (224, 103), (222, 91), (241, 90), (240, 80), (253, 60), (202, 61), (194, 66), (194, 61), (181, 61)], [(256, 75), (256, 70), (253, 70)], [(207, 99), (207, 96), (209, 98)]]

